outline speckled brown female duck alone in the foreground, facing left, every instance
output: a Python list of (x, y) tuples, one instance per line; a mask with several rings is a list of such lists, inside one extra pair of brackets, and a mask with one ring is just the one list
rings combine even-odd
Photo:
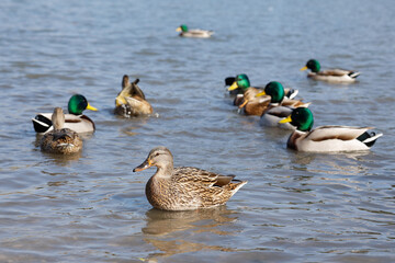
[(146, 185), (148, 202), (162, 210), (192, 210), (225, 204), (247, 181), (192, 167), (173, 168), (173, 157), (166, 147), (153, 149), (133, 171), (157, 167)]

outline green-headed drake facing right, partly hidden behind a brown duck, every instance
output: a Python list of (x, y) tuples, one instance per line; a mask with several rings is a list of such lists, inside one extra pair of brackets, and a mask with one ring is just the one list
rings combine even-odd
[[(68, 102), (69, 114), (65, 115), (65, 128), (72, 129), (78, 134), (93, 133), (94, 123), (88, 116), (82, 115), (84, 110), (98, 111), (88, 103), (83, 95), (72, 95)], [(53, 130), (52, 115), (52, 113), (38, 113), (32, 118), (34, 130), (40, 134)]]

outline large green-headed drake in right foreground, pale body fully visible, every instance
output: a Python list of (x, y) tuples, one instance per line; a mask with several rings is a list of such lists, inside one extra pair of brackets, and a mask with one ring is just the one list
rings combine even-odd
[(287, 147), (297, 151), (357, 151), (369, 150), (383, 134), (368, 133), (372, 127), (320, 126), (312, 129), (313, 113), (306, 107), (293, 110), (290, 117), (280, 123), (291, 122), (296, 126)]

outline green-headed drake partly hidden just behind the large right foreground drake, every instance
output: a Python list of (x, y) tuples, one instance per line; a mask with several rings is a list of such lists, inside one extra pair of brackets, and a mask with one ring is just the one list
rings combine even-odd
[(283, 129), (295, 129), (290, 123), (280, 123), (292, 114), (296, 107), (308, 107), (311, 103), (304, 103), (297, 100), (290, 100), (284, 96), (284, 88), (278, 81), (269, 82), (264, 90), (256, 96), (269, 95), (271, 98), (269, 105), (263, 110), (259, 124), (261, 126), (279, 127)]

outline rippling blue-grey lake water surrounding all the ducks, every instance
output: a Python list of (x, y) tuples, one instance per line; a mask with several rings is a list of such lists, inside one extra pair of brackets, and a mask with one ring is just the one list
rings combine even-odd
[[(393, 1), (13, 1), (0, 3), (0, 262), (395, 261)], [(214, 30), (210, 39), (176, 28)], [(361, 71), (308, 80), (309, 58)], [(301, 153), (289, 132), (232, 105), (224, 79), (276, 80), (313, 102), (315, 126), (373, 126), (371, 151)], [(154, 116), (113, 115), (123, 75)], [(74, 93), (99, 112), (83, 151), (40, 151), (31, 118)], [(140, 164), (156, 146), (176, 165), (248, 180), (226, 206), (151, 209)]]

